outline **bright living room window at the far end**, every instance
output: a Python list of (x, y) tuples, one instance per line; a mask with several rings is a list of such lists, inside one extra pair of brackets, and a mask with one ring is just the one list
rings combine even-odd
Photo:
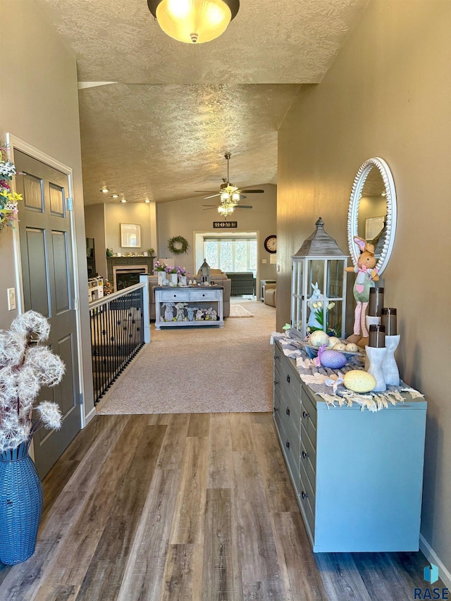
[(204, 256), (221, 271), (252, 271), (257, 278), (257, 238), (204, 237)]

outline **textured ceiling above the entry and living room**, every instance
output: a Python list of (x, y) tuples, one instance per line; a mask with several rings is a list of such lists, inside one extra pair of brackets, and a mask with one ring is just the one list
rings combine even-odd
[[(85, 204), (276, 183), (277, 130), (368, 0), (241, 0), (218, 39), (175, 42), (147, 0), (36, 0), (77, 57)], [(120, 164), (120, 168), (118, 167)], [(126, 174), (126, 178), (125, 175)], [(110, 194), (101, 194), (102, 185)]]

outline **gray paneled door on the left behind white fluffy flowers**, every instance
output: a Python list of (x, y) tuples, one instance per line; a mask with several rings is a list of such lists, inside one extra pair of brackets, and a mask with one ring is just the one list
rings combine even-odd
[(19, 211), (25, 311), (46, 316), (51, 324), (49, 346), (66, 364), (63, 381), (44, 388), (40, 400), (58, 404), (63, 427), (39, 430), (34, 437), (35, 463), (43, 478), (80, 430), (78, 344), (75, 314), (73, 248), (67, 209), (68, 176), (14, 151)]

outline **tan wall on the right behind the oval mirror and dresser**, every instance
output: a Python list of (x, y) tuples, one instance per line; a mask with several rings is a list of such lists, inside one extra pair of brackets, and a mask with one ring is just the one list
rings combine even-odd
[(371, 0), (321, 84), (300, 89), (279, 130), (277, 307), (280, 329), (290, 318), (290, 256), (320, 215), (347, 248), (354, 176), (366, 159), (381, 156), (393, 172), (398, 208), (385, 304), (398, 311), (401, 376), (428, 401), (421, 533), (448, 577), (450, 31), (449, 1)]

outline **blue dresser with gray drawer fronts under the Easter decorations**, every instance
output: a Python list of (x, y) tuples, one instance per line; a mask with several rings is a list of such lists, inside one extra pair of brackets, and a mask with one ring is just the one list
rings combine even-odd
[(314, 552), (417, 551), (426, 401), (328, 407), (274, 349), (274, 421)]

